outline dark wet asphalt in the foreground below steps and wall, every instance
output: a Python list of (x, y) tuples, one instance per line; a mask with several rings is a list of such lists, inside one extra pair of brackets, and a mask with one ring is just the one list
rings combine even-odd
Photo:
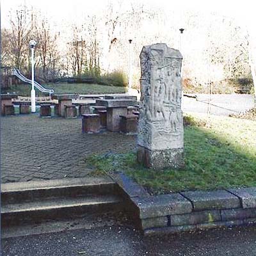
[(3, 256), (255, 256), (256, 227), (142, 237), (129, 225), (2, 241)]

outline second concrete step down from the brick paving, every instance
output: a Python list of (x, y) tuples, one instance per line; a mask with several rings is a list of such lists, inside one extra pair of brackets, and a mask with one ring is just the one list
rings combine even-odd
[(47, 198), (31, 202), (1, 205), (1, 225), (10, 227), (45, 220), (72, 219), (105, 212), (122, 211), (123, 201), (116, 195), (77, 198)]

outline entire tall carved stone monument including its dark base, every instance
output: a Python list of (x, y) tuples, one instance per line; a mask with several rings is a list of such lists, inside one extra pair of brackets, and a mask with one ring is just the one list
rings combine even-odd
[(180, 52), (166, 44), (144, 46), (140, 54), (138, 161), (148, 168), (184, 167), (181, 63)]

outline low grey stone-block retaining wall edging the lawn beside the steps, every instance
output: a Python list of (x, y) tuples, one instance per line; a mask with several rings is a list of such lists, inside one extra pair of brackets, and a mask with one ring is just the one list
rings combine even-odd
[(256, 188), (186, 191), (150, 196), (124, 173), (111, 178), (146, 236), (256, 224)]

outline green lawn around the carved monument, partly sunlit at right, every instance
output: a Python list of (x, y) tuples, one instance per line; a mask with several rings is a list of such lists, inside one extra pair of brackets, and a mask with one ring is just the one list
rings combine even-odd
[[(152, 194), (256, 186), (256, 121), (194, 114), (184, 129), (184, 170), (147, 170), (136, 152), (90, 156), (95, 173), (124, 171)], [(207, 123), (207, 125), (205, 125)]]

